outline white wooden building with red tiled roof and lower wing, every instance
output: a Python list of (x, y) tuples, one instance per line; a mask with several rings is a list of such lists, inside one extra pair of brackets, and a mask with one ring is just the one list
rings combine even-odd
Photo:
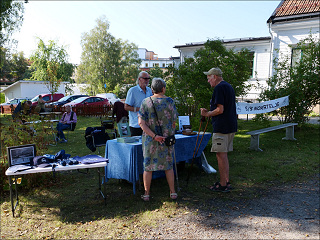
[[(267, 20), (270, 36), (257, 38), (224, 39), (224, 45), (230, 49), (248, 48), (253, 53), (252, 76), (248, 80), (261, 87), (266, 87), (266, 80), (273, 74), (273, 59), (277, 56), (276, 49), (282, 53), (292, 54), (295, 44), (306, 38), (309, 33), (319, 38), (320, 1), (319, 0), (282, 0)], [(180, 62), (193, 57), (196, 50), (204, 47), (204, 42), (177, 45)], [(289, 47), (289, 45), (293, 45)], [(300, 53), (301, 54), (301, 53)], [(245, 100), (255, 100), (261, 92), (256, 84)]]

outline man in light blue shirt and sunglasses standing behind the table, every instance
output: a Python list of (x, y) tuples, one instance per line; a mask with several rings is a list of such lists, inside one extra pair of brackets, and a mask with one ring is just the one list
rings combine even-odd
[(141, 136), (142, 129), (138, 123), (138, 112), (142, 101), (152, 96), (151, 88), (148, 87), (150, 76), (142, 71), (137, 78), (137, 86), (129, 89), (124, 104), (124, 109), (129, 112), (129, 126), (131, 136)]

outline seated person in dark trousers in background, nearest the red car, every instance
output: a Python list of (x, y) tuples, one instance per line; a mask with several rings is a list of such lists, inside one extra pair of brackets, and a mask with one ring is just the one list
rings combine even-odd
[(71, 106), (66, 105), (66, 112), (62, 115), (59, 123), (57, 124), (57, 138), (56, 141), (61, 139), (60, 143), (66, 143), (67, 139), (64, 136), (63, 130), (71, 129), (71, 124), (77, 123), (77, 115), (75, 112), (71, 111)]

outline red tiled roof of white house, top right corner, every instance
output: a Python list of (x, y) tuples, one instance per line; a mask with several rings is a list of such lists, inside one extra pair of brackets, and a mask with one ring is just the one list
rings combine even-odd
[(319, 0), (282, 0), (267, 22), (320, 17)]

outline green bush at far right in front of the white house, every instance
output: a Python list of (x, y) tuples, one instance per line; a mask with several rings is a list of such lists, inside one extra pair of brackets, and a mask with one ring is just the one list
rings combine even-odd
[[(293, 46), (289, 45), (293, 48)], [(300, 60), (292, 64), (291, 54), (280, 54), (274, 59), (274, 75), (267, 80), (268, 88), (261, 100), (289, 96), (289, 105), (274, 111), (283, 122), (304, 123), (311, 108), (320, 102), (320, 42), (312, 36), (299, 41), (294, 47)], [(279, 50), (277, 50), (279, 53)]]

